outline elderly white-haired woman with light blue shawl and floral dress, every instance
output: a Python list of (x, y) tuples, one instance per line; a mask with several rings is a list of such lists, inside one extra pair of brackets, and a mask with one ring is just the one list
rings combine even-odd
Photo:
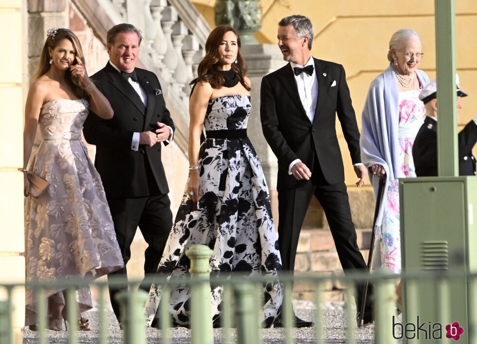
[(422, 56), (415, 31), (395, 32), (389, 41), (390, 64), (371, 83), (362, 115), (361, 161), (372, 171), (375, 196), (379, 179), (386, 178), (375, 228), (381, 266), (396, 274), (401, 272), (398, 179), (416, 176), (412, 145), (425, 117), (419, 93), (429, 78), (417, 69)]

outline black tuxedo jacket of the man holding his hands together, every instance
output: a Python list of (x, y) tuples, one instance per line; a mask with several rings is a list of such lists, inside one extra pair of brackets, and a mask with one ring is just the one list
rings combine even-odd
[(114, 111), (110, 120), (90, 113), (83, 129), (86, 141), (96, 145), (94, 165), (108, 197), (145, 197), (151, 195), (151, 190), (159, 194), (169, 192), (161, 161), (161, 143), (152, 147), (139, 145), (137, 152), (131, 150), (135, 132), (155, 132), (156, 122), (174, 129), (157, 76), (145, 69), (135, 70), (138, 83), (147, 93), (147, 107), (109, 62), (92, 76)]

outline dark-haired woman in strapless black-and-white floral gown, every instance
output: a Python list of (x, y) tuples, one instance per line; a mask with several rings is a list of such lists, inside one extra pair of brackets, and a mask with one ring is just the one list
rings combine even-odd
[[(237, 272), (276, 276), (281, 270), (270, 198), (252, 143), (247, 137), (251, 111), (250, 80), (239, 53), (240, 40), (230, 25), (220, 25), (205, 44), (189, 102), (189, 180), (170, 232), (158, 273), (170, 278), (187, 274), (185, 251), (195, 244), (213, 250), (212, 274)], [(206, 139), (200, 143), (202, 127)], [(264, 286), (263, 325), (270, 327), (281, 310), (282, 287)], [(222, 288), (211, 291), (214, 326), (220, 325)], [(153, 284), (145, 312), (151, 325), (161, 297)], [(178, 325), (188, 326), (190, 289), (171, 292), (169, 311)]]

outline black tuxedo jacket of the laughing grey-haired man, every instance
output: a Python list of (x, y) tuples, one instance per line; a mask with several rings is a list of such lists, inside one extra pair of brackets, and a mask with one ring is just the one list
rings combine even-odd
[(289, 165), (295, 159), (300, 159), (310, 171), (315, 164), (320, 164), (328, 184), (344, 181), (336, 114), (353, 164), (361, 162), (358, 124), (345, 69), (333, 62), (313, 60), (313, 76), (318, 79), (313, 122), (300, 101), (290, 63), (262, 79), (260, 118), (263, 134), (278, 160), (277, 189), (295, 189), (307, 183), (288, 174)]

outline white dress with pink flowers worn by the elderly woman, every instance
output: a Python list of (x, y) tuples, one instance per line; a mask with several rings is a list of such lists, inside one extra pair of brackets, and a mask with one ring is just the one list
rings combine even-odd
[[(415, 177), (412, 145), (425, 117), (424, 103), (419, 100), (421, 90), (399, 92), (399, 160), (401, 175)], [(401, 272), (401, 235), (399, 224), (398, 179), (389, 181), (384, 199), (381, 245), (381, 265), (395, 273)]]

